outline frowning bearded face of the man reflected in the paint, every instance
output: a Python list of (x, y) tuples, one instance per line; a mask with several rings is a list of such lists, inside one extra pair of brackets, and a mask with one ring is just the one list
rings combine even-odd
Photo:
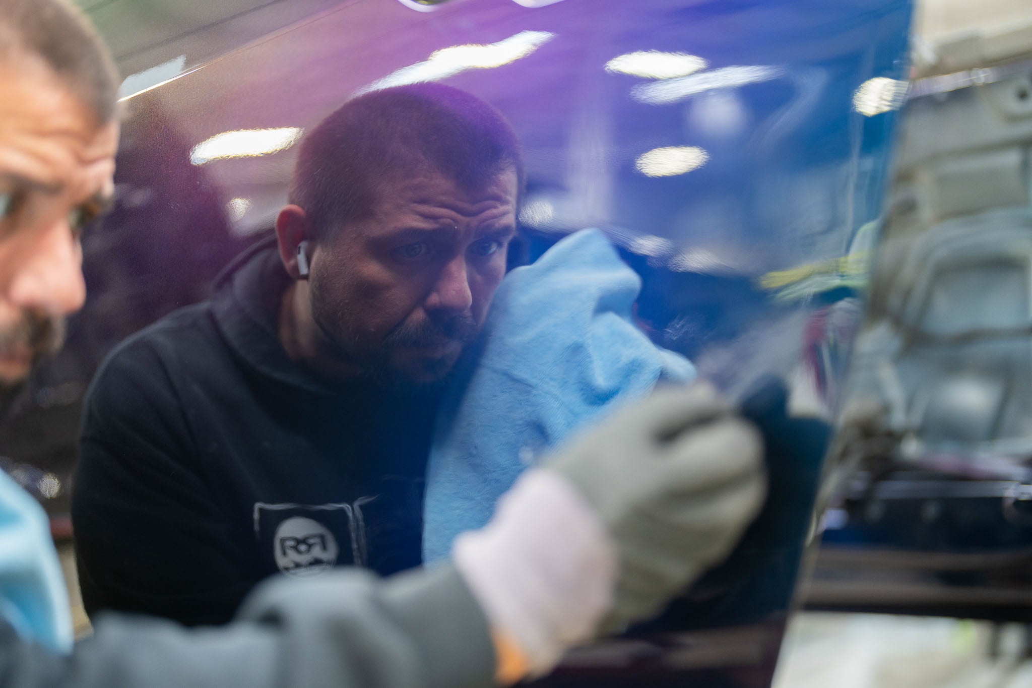
[(317, 324), (378, 376), (442, 380), (484, 324), (516, 232), (516, 173), (467, 192), (427, 172), (382, 185), (374, 211), (320, 243)]

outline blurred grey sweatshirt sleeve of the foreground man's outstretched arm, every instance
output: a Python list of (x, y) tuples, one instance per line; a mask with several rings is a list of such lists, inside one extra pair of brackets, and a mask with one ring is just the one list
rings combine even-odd
[(493, 675), (487, 622), (451, 566), (276, 580), (220, 628), (101, 616), (68, 656), (0, 622), (4, 688), (480, 688)]

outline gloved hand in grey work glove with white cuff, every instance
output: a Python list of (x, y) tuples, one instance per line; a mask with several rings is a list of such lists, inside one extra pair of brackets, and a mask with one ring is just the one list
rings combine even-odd
[(456, 540), (455, 565), (504, 645), (542, 674), (730, 553), (763, 504), (762, 453), (712, 388), (656, 392), (526, 471)]

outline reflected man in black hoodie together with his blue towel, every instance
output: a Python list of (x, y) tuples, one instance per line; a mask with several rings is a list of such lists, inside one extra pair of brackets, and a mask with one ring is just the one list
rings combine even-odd
[[(353, 546), (338, 563), (418, 565), (439, 387), (488, 321), (522, 178), (502, 116), (440, 85), (366, 94), (312, 130), (276, 236), (209, 302), (130, 338), (98, 373), (76, 478), (89, 489), (73, 504), (87, 609), (227, 620), (285, 570), (280, 543), (246, 529), (257, 503), (376, 497), (357, 525), (324, 523)], [(455, 470), (430, 472), (432, 558), (486, 523), (526, 467), (521, 451), (557, 446), (660, 378), (694, 375), (631, 323), (640, 281), (601, 233), (571, 237), (516, 284), (477, 359), (501, 378), (471, 381), (481, 415), (449, 405), (438, 423)], [(513, 384), (521, 375), (530, 389)], [(137, 560), (119, 540), (143, 543)], [(199, 557), (213, 565), (198, 570)], [(183, 599), (194, 603), (171, 604)]]

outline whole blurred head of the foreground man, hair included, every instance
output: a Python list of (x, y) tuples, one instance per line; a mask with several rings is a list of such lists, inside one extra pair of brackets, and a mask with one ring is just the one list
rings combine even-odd
[(79, 232), (114, 191), (118, 73), (65, 0), (0, 2), (0, 390), (86, 297)]

